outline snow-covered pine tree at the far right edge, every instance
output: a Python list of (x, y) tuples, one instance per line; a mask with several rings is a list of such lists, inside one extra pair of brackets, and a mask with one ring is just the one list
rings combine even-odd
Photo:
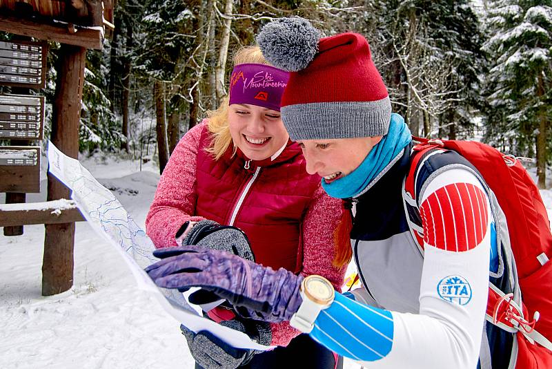
[(489, 101), (516, 155), (537, 156), (538, 185), (546, 184), (552, 117), (552, 1), (493, 1), (484, 44), (495, 64), (487, 81)]

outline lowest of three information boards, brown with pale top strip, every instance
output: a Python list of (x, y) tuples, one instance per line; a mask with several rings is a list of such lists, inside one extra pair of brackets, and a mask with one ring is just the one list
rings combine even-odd
[(0, 192), (40, 192), (39, 146), (0, 146)]

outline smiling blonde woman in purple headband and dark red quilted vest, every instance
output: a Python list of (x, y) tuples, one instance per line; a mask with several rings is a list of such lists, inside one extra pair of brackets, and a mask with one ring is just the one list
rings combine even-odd
[[(337, 226), (348, 214), (306, 173), (301, 149), (289, 140), (279, 111), (288, 72), (267, 65), (256, 46), (239, 50), (234, 64), (229, 97), (170, 156), (146, 218), (148, 236), (156, 247), (193, 243), (302, 276), (322, 274), (339, 289), (351, 251), (346, 230), (344, 247), (335, 247)], [(226, 226), (247, 238), (236, 241)], [(297, 337), (288, 322), (243, 319), (221, 307), (208, 315), (261, 344), (284, 347), (236, 349), (182, 326), (197, 368), (282, 368), (292, 357), (302, 368), (337, 366), (333, 352), (306, 334)]]

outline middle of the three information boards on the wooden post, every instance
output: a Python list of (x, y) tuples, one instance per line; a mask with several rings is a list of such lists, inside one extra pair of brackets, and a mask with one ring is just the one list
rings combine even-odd
[(43, 96), (0, 95), (0, 139), (42, 140)]

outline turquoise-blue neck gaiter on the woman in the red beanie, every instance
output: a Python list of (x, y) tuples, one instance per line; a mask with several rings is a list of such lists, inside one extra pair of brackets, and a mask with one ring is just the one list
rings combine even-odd
[(362, 192), (381, 171), (404, 150), (412, 140), (410, 129), (398, 114), (391, 114), (389, 131), (351, 173), (322, 187), (333, 198), (351, 198)]

